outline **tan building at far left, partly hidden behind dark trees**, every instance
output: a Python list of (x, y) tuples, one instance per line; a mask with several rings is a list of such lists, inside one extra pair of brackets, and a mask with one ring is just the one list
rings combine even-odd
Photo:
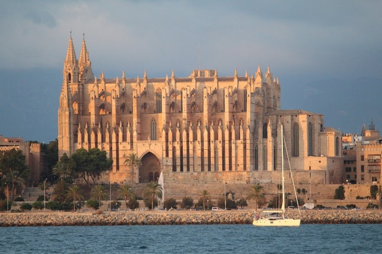
[(41, 152), (41, 144), (24, 142), (23, 138), (6, 138), (0, 135), (0, 155), (12, 149), (21, 150), (25, 155), (25, 162), (31, 170), (27, 185), (37, 185), (41, 173), (47, 168), (47, 156)]

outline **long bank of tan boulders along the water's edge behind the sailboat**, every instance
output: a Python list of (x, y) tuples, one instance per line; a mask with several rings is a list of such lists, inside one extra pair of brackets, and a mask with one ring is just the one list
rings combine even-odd
[[(0, 226), (251, 224), (253, 212), (2, 213)], [(298, 216), (297, 211), (290, 217)], [(302, 211), (302, 224), (380, 224), (382, 211)]]

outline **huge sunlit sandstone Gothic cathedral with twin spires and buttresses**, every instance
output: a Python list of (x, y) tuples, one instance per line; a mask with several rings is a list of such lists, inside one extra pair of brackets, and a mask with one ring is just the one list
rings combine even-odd
[[(300, 182), (339, 183), (342, 134), (324, 127), (324, 116), (280, 108), (278, 77), (260, 66), (222, 77), (192, 70), (188, 77), (94, 77), (85, 41), (76, 58), (66, 53), (58, 109), (59, 157), (99, 148), (113, 159), (100, 181), (188, 184), (274, 183), (281, 170), (280, 127), (285, 152)], [(142, 165), (124, 164), (136, 154)], [(295, 177), (295, 173), (294, 173)]]

